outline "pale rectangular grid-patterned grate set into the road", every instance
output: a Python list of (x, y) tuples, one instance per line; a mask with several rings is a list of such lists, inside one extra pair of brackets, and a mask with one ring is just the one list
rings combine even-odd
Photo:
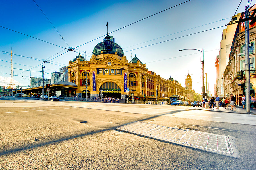
[(165, 127), (144, 122), (130, 123), (116, 128), (116, 130), (234, 155), (228, 136)]

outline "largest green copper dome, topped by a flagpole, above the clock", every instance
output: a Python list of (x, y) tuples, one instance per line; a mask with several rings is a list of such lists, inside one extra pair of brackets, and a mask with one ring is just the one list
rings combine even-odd
[(120, 45), (111, 41), (108, 34), (103, 42), (98, 43), (94, 47), (92, 54), (97, 56), (101, 54), (101, 51), (103, 51), (103, 54), (115, 54), (115, 52), (117, 52), (117, 55), (123, 57), (123, 49)]

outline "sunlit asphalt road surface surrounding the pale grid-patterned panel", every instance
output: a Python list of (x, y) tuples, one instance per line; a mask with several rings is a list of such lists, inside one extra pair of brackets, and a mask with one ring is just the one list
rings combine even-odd
[[(0, 99), (0, 169), (256, 167), (255, 115), (169, 105)], [(238, 156), (115, 130), (134, 121), (229, 136)]]

